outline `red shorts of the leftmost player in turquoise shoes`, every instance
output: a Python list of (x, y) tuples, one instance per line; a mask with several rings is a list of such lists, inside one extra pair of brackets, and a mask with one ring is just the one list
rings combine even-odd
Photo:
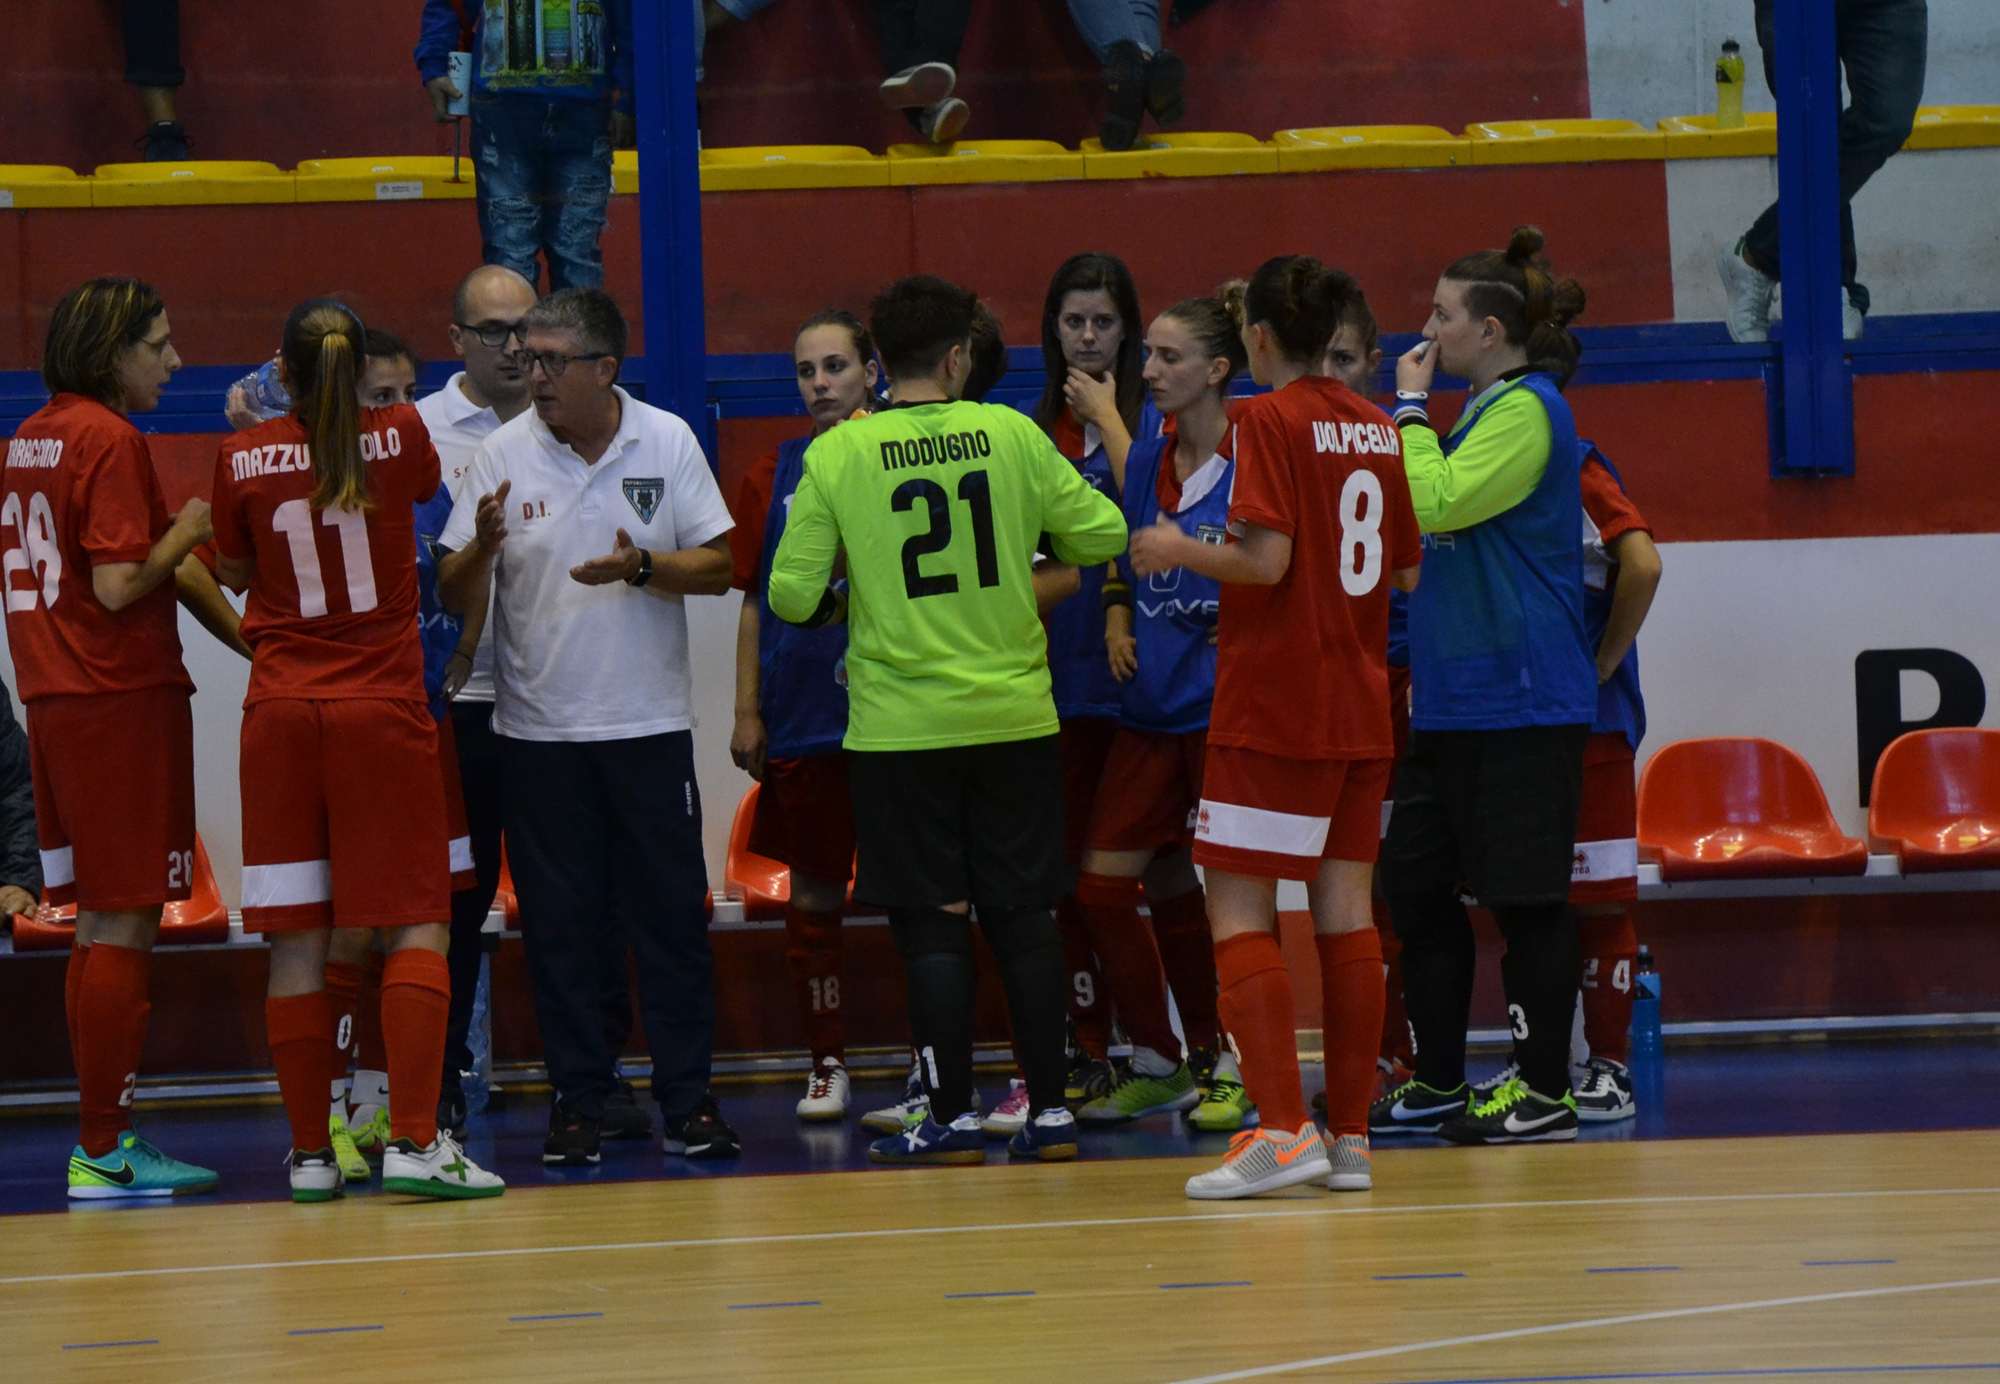
[(154, 908), (194, 882), (188, 688), (28, 702), (42, 882), (84, 912)]

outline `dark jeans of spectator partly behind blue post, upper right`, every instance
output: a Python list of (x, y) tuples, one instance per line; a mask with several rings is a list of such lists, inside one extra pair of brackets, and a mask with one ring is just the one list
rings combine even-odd
[[(1772, 6), (1756, 0), (1756, 40), (1764, 50), (1764, 80), (1778, 86), (1778, 36)], [(1902, 148), (1924, 98), (1930, 40), (1926, 0), (1836, 0), (1834, 50), (1848, 78), (1848, 108), (1840, 112), (1840, 282), (1868, 312), (1868, 288), (1856, 280), (1854, 194), (1888, 156)], [(1744, 234), (1744, 248), (1766, 274), (1778, 274), (1778, 204), (1772, 202)]]

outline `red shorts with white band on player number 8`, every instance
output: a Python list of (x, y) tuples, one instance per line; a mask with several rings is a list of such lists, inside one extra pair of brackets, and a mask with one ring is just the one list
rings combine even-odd
[(1322, 860), (1372, 862), (1392, 768), (1208, 746), (1194, 862), (1278, 880), (1310, 880)]

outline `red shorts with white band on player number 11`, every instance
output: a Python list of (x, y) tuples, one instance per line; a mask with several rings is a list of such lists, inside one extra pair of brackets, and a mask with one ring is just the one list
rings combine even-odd
[(452, 916), (438, 724), (422, 702), (244, 708), (244, 930)]

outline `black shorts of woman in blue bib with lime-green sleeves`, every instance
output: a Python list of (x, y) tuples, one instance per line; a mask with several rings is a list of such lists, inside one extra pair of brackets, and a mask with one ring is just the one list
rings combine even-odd
[(1384, 888), (1486, 906), (1570, 896), (1588, 726), (1418, 730), (1396, 764)]

